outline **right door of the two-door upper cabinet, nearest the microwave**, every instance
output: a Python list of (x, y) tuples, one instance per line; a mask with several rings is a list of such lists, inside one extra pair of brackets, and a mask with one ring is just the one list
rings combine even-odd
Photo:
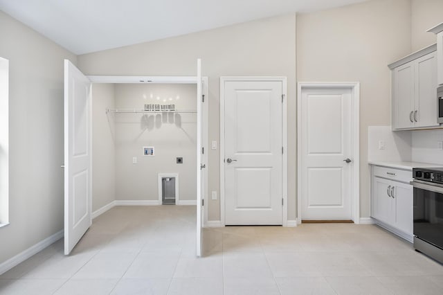
[(415, 60), (415, 127), (438, 126), (437, 123), (437, 53)]

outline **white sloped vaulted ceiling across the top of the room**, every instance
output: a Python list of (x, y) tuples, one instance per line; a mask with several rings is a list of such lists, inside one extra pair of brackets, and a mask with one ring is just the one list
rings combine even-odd
[(364, 0), (0, 0), (0, 9), (75, 54)]

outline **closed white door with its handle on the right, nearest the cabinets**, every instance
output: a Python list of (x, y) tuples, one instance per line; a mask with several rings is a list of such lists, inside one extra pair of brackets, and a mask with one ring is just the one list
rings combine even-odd
[(302, 220), (351, 220), (351, 89), (302, 89), (300, 107)]

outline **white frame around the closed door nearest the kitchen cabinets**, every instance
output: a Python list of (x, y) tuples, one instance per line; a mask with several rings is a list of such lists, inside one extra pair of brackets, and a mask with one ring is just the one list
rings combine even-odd
[(304, 89), (347, 88), (351, 90), (351, 151), (354, 166), (351, 171), (351, 214), (355, 224), (360, 223), (360, 82), (298, 82), (297, 83), (297, 224), (302, 222), (302, 114)]

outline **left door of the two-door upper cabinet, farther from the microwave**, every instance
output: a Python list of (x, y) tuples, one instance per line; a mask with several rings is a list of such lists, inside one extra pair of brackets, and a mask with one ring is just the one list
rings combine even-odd
[(414, 127), (414, 62), (398, 66), (393, 72), (394, 103), (392, 124), (394, 129)]

